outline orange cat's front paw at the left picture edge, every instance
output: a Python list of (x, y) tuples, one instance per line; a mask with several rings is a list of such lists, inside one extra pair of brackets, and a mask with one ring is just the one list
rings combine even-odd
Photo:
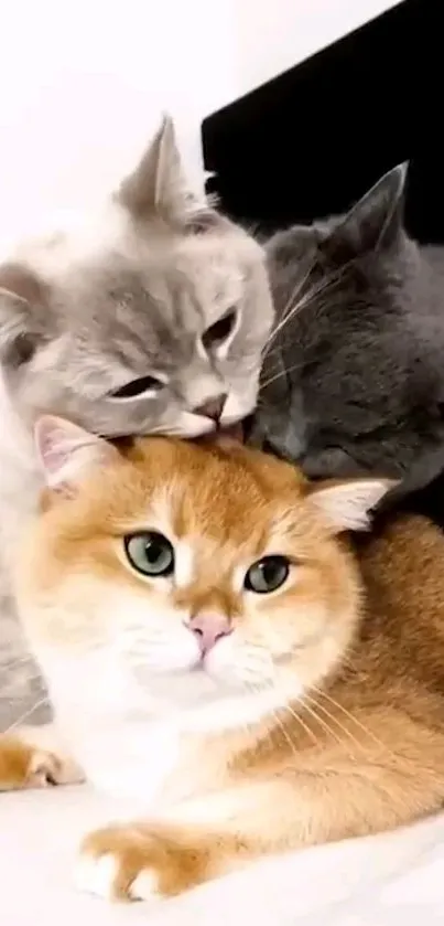
[(0, 737), (0, 791), (47, 788), (78, 780), (82, 776), (71, 759), (15, 736)]

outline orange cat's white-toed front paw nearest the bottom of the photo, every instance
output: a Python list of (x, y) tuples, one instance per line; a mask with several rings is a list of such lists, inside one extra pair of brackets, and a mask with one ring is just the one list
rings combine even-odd
[(76, 871), (80, 891), (107, 900), (171, 897), (206, 880), (207, 855), (158, 827), (116, 826), (90, 833)]

